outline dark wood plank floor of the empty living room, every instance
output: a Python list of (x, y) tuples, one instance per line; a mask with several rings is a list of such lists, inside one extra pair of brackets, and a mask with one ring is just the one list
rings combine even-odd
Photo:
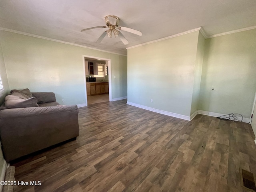
[(256, 175), (249, 124), (157, 114), (126, 100), (79, 109), (77, 140), (13, 164), (26, 192), (241, 192), (240, 168)]

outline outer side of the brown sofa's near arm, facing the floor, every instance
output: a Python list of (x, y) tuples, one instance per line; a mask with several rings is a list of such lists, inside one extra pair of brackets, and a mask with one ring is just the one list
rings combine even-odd
[(0, 111), (0, 139), (7, 162), (78, 135), (76, 105)]

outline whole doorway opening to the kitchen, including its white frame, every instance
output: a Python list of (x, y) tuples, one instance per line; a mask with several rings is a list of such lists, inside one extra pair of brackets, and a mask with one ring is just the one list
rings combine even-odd
[[(86, 106), (100, 102), (112, 101), (111, 60), (87, 55), (83, 55), (82, 58)], [(89, 72), (86, 68), (88, 68)], [(95, 68), (97, 70), (95, 70)], [(104, 76), (100, 75), (102, 74), (102, 68), (104, 69)], [(98, 70), (100, 73), (99, 75)], [(97, 74), (95, 74), (96, 71)], [(90, 78), (90, 80), (88, 80), (88, 78)], [(96, 80), (96, 82), (94, 82), (94, 80)]]

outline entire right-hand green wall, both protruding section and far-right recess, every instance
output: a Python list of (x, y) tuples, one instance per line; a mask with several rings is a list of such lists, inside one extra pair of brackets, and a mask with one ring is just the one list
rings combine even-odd
[(209, 39), (192, 32), (128, 49), (128, 102), (250, 118), (255, 74), (256, 29)]

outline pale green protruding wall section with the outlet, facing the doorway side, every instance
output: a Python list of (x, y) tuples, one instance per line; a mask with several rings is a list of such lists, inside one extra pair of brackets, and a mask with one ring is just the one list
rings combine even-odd
[(190, 116), (198, 33), (128, 49), (128, 102)]

